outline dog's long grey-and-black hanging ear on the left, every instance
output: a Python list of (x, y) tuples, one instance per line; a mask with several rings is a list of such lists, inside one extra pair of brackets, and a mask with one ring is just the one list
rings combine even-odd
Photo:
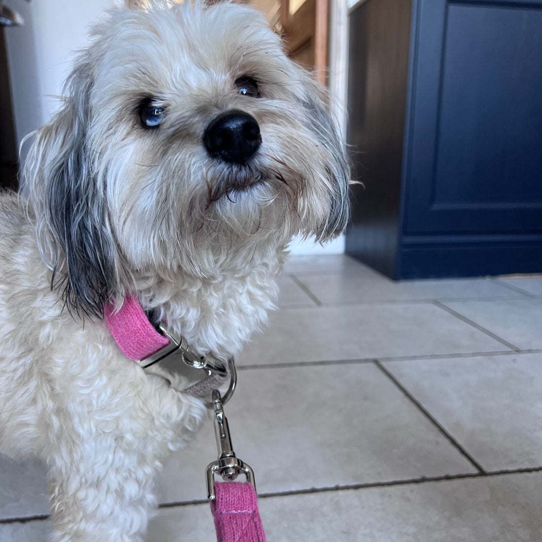
[(105, 187), (96, 183), (89, 150), (92, 64), (79, 62), (64, 87), (63, 107), (40, 128), (24, 179), (36, 215), (38, 244), (70, 313), (102, 316), (117, 282)]

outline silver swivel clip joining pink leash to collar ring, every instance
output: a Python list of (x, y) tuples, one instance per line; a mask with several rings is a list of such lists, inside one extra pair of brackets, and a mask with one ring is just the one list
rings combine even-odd
[[(233, 366), (233, 370), (235, 371), (235, 366), (233, 363), (231, 366)], [(234, 378), (232, 373), (232, 382), (233, 381)], [(235, 384), (231, 386), (230, 383), (230, 397), (234, 388)], [(228, 392), (226, 395), (224, 395), (224, 399), (227, 398), (227, 395)], [(215, 436), (218, 448), (218, 460), (210, 463), (205, 473), (207, 478), (207, 498), (211, 501), (215, 500), (216, 496), (215, 473), (220, 474), (223, 480), (235, 480), (237, 476), (242, 473), (247, 477), (247, 482), (251, 483), (254, 488), (256, 488), (253, 470), (246, 463), (243, 463), (243, 461), (235, 456), (233, 447), (231, 446), (228, 418), (224, 415), (225, 401), (222, 399), (220, 391), (215, 390), (212, 392), (212, 401), (215, 409)]]

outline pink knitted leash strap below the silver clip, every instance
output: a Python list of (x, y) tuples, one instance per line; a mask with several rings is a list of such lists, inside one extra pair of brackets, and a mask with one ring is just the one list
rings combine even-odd
[(215, 482), (211, 501), (218, 542), (266, 542), (254, 486), (249, 482)]

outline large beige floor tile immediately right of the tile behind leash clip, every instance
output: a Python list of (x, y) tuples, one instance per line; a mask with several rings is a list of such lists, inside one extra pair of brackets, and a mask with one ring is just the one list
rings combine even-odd
[(542, 465), (542, 354), (384, 365), (486, 470)]

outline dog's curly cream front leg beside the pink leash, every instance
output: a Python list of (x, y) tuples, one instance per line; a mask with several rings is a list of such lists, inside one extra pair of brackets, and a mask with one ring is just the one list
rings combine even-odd
[(99, 376), (89, 379), (91, 392), (80, 386), (50, 416), (57, 428), (47, 454), (55, 542), (143, 540), (156, 510), (154, 474), (205, 415), (202, 401), (135, 364), (104, 380), (102, 388)]

